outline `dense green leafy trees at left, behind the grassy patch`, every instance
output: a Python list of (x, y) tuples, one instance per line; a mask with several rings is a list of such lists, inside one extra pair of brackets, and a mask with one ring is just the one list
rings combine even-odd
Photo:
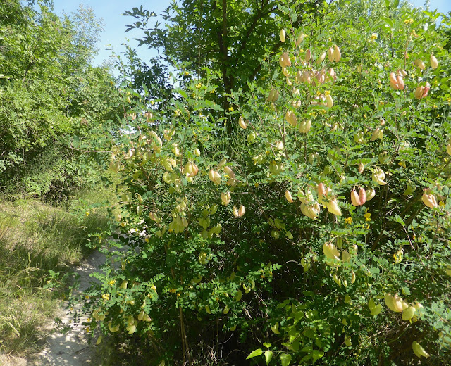
[(101, 23), (89, 8), (58, 18), (18, 0), (0, 14), (0, 186), (61, 198), (97, 180), (97, 157), (80, 149), (115, 119), (111, 73), (90, 65)]

